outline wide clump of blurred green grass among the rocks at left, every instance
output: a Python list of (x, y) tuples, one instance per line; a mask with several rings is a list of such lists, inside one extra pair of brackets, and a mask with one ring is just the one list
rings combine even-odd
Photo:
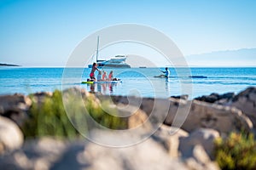
[[(75, 94), (68, 94), (63, 98), (65, 99), (65, 107), (59, 90), (55, 90), (52, 96), (45, 95), (41, 102), (38, 102), (33, 95), (30, 97), (32, 107), (28, 111), (26, 122), (21, 127), (26, 138), (55, 136), (77, 139), (81, 137), (80, 132), (85, 134), (91, 129), (91, 120), (102, 127), (111, 129), (127, 127), (124, 119), (108, 114), (109, 111), (116, 112), (116, 110), (108, 107), (108, 101), (99, 103), (91, 97), (84, 97), (81, 100)], [(102, 110), (102, 108), (108, 108), (108, 111)]]

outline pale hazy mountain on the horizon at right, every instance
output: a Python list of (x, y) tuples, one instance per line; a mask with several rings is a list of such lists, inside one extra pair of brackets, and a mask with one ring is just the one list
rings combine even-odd
[(192, 54), (185, 58), (191, 66), (256, 66), (256, 48)]

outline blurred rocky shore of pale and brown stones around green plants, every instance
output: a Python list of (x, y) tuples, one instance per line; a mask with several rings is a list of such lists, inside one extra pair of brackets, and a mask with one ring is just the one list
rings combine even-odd
[[(30, 118), (32, 103), (40, 105), (52, 93), (0, 96), (1, 169), (219, 169), (214, 142), (230, 133), (256, 133), (256, 88), (239, 94), (210, 94), (193, 100), (187, 96), (151, 99), (90, 94), (71, 88), (62, 93), (91, 98), (91, 105), (109, 104), (127, 118), (125, 129), (141, 127), (148, 135), (127, 147), (108, 147), (87, 139), (59, 139), (53, 136), (25, 138), (22, 126)], [(148, 122), (149, 120), (149, 122)], [(162, 123), (154, 124), (155, 120)], [(95, 132), (95, 131), (92, 131)], [(108, 132), (95, 133), (107, 139)], [(131, 139), (142, 135), (133, 131)], [(122, 138), (120, 135), (114, 136)], [(113, 136), (112, 138), (113, 139)], [(120, 139), (121, 141), (121, 139)]]

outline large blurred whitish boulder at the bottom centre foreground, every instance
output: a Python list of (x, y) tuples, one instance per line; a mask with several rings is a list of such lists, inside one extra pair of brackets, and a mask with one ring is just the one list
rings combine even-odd
[[(67, 152), (71, 155), (73, 153), (69, 150)], [(166, 150), (152, 139), (125, 148), (110, 148), (90, 143), (78, 153), (79, 164), (84, 169), (187, 169), (181, 161), (171, 159)], [(70, 169), (78, 166), (67, 158), (64, 156), (58, 164), (55, 164), (54, 169)], [(70, 165), (72, 167), (68, 167)]]

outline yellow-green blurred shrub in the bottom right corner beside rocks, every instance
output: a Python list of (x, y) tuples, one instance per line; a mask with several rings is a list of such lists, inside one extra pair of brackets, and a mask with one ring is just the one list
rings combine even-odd
[(230, 133), (227, 139), (217, 139), (215, 146), (221, 169), (256, 169), (256, 142), (252, 133)]

